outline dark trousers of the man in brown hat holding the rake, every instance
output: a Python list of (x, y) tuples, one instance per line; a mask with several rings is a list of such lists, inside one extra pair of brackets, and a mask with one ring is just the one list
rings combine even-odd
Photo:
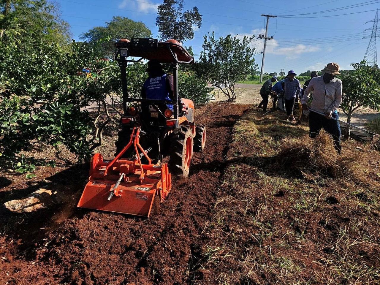
[[(339, 115), (337, 113), (332, 113), (332, 117), (339, 119)], [(325, 116), (310, 111), (309, 128), (310, 138), (315, 138), (317, 135), (319, 135), (321, 128), (327, 131), (334, 139), (334, 147), (340, 154), (340, 150), (342, 149), (340, 146), (340, 135), (342, 132), (340, 131), (340, 125), (338, 121), (327, 119)]]

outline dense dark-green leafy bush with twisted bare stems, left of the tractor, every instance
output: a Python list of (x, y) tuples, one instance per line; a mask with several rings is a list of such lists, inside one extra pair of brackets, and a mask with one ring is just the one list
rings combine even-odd
[[(31, 40), (23, 45), (11, 34), (8, 39), (0, 41), (2, 163), (18, 165), (22, 152), (39, 143), (64, 144), (80, 160), (88, 159), (112, 121), (107, 98), (121, 94), (117, 63), (94, 57), (84, 43), (62, 47)], [(134, 95), (146, 78), (145, 68), (128, 65), (128, 88)], [(96, 111), (90, 114), (86, 106)]]

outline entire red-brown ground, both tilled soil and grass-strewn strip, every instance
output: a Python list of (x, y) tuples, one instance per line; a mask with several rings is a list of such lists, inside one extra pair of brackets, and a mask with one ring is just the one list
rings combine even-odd
[[(310, 171), (304, 163), (314, 167), (318, 149), (334, 153), (331, 141), (300, 149), (312, 144), (304, 143), (306, 123), (291, 125), (280, 112), (263, 117), (245, 104), (258, 101), (241, 88), (240, 104), (196, 110), (206, 147), (150, 218), (76, 208), (88, 166), (76, 165), (65, 149), (35, 149), (37, 157), (57, 157), (57, 165), (38, 168), (33, 179), (2, 171), (0, 204), (41, 187), (60, 190), (69, 202), (1, 212), (0, 284), (378, 284), (378, 152), (345, 141), (347, 167), (334, 158)], [(97, 149), (106, 158), (116, 132), (107, 130)], [(350, 163), (359, 180), (328, 176), (349, 173)]]

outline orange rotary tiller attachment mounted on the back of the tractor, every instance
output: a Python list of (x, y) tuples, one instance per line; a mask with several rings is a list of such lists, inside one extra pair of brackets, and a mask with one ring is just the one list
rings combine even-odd
[[(127, 146), (112, 161), (94, 154), (90, 161), (90, 177), (78, 207), (149, 217), (154, 199), (162, 202), (171, 189), (168, 165), (152, 164), (140, 143), (140, 128), (133, 128)], [(133, 147), (136, 155), (122, 158)], [(147, 164), (142, 164), (145, 157)]]

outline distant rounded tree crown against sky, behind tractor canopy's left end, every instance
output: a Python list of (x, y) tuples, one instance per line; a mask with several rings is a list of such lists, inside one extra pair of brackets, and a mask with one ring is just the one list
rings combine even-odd
[(93, 27), (81, 35), (81, 40), (92, 44), (98, 56), (113, 59), (116, 53), (114, 43), (121, 38), (149, 38), (152, 32), (143, 22), (126, 17), (114, 16), (104, 27)]

